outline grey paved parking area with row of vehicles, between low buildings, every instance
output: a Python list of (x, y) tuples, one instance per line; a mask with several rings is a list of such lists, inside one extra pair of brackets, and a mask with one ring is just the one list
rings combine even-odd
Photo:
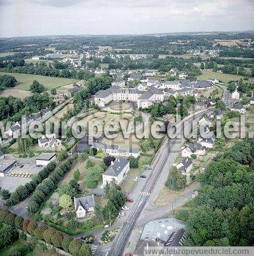
[(16, 160), (18, 165), (7, 171), (4, 177), (0, 177), (0, 187), (14, 192), (20, 185), (25, 185), (31, 181), (32, 176), (36, 175), (44, 167), (36, 166), (36, 157), (16, 158), (11, 154), (5, 155), (5, 160)]

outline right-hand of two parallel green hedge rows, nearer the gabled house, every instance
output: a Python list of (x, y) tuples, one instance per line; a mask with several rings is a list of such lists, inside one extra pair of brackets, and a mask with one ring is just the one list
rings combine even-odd
[(57, 167), (48, 178), (44, 179), (42, 183), (40, 183), (32, 196), (29, 199), (28, 210), (32, 213), (38, 212), (40, 209), (40, 205), (47, 198), (48, 194), (50, 194), (53, 189), (55, 189), (55, 185), (59, 183), (63, 175), (69, 171), (73, 165), (75, 159), (77, 159), (78, 155), (74, 154), (71, 158), (67, 159), (59, 167)]

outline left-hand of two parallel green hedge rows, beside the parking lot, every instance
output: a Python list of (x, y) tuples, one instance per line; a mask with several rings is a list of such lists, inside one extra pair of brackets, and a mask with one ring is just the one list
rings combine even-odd
[(24, 200), (31, 192), (36, 190), (36, 187), (48, 177), (49, 173), (51, 173), (55, 167), (55, 162), (49, 163), (44, 169), (42, 169), (42, 171), (32, 177), (32, 181), (26, 183), (25, 185), (18, 186), (16, 191), (13, 192), (10, 198), (6, 200), (5, 204), (7, 206), (13, 206)]

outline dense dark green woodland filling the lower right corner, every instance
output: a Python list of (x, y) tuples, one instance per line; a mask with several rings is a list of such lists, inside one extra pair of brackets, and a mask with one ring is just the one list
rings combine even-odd
[(237, 142), (208, 164), (187, 214), (186, 245), (254, 245), (253, 169), (253, 140)]

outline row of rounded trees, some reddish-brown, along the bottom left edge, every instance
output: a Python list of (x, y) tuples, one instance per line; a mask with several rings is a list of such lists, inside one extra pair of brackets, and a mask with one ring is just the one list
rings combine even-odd
[[(16, 226), (17, 228), (22, 227), (22, 230), (28, 232), (37, 239), (44, 240), (46, 243), (51, 243), (55, 247), (61, 248), (72, 255), (92, 255), (90, 247), (86, 244), (82, 245), (80, 243), (80, 239), (72, 239), (69, 236), (63, 237), (61, 232), (58, 232), (46, 225), (38, 226), (38, 223), (34, 221), (23, 220), (22, 217), (12, 214), (9, 210), (0, 210), (0, 220), (7, 224)], [(20, 222), (20, 220), (22, 221)]]

